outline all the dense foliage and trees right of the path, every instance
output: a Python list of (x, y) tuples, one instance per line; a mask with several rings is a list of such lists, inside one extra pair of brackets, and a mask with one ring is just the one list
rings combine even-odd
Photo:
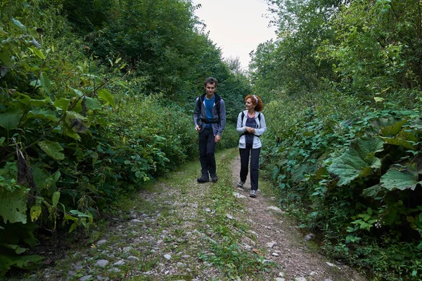
[(421, 280), (420, 2), (268, 3), (250, 77), (280, 204), (371, 280)]

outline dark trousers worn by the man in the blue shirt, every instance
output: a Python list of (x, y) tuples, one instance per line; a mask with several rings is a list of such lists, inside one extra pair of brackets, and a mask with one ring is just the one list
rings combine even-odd
[(208, 172), (211, 176), (216, 175), (215, 165), (215, 136), (212, 128), (205, 128), (199, 133), (199, 161), (202, 176), (208, 178)]

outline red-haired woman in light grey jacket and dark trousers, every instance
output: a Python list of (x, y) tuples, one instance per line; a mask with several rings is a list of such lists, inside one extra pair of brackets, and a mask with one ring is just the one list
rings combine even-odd
[(243, 188), (248, 176), (250, 155), (250, 197), (257, 197), (258, 169), (260, 168), (261, 141), (260, 136), (267, 131), (264, 115), (261, 113), (262, 100), (259, 96), (245, 97), (246, 110), (239, 113), (236, 130), (241, 133), (239, 152), (241, 154), (241, 181), (239, 188)]

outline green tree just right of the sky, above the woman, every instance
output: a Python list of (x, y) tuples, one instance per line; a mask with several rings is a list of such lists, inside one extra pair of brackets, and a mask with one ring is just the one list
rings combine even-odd
[[(278, 38), (262, 44), (252, 53), (250, 67), (255, 91), (271, 96), (271, 91), (274, 93), (277, 89), (288, 95), (302, 96), (321, 89), (321, 79), (332, 79), (333, 72), (326, 60), (317, 60), (316, 50), (322, 41), (333, 38), (329, 20), (343, 1), (267, 2), (275, 16), (273, 22), (278, 27)], [(270, 97), (274, 98), (276, 96)]]

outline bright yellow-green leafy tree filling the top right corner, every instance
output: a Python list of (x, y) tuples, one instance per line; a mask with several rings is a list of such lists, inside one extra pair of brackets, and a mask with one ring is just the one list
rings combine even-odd
[(333, 62), (343, 92), (413, 106), (421, 89), (421, 17), (419, 1), (353, 1), (332, 21), (335, 40), (321, 46), (320, 57)]

